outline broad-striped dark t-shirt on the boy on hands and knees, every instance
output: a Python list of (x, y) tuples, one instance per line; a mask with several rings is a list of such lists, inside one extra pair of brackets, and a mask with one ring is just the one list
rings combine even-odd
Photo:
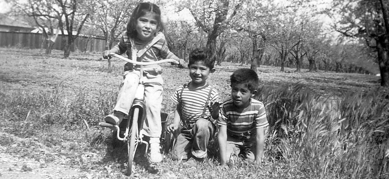
[(243, 139), (255, 136), (256, 128), (269, 125), (265, 105), (252, 98), (250, 105), (244, 109), (238, 109), (231, 98), (227, 99), (220, 108), (217, 124), (227, 126), (227, 134)]

